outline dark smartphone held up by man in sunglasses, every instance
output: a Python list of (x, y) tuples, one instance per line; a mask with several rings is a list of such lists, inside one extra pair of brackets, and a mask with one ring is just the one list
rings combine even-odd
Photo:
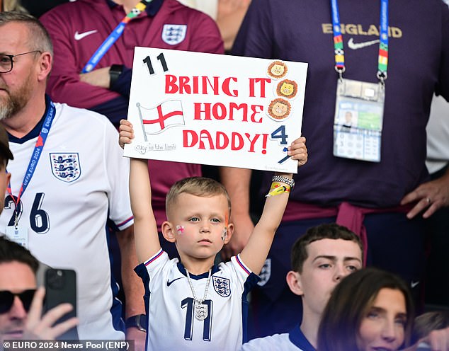
[[(68, 302), (72, 311), (59, 318), (55, 324), (76, 317), (76, 272), (59, 268), (48, 268), (45, 271), (45, 313), (50, 309)], [(76, 327), (59, 335), (57, 340), (79, 340)]]

